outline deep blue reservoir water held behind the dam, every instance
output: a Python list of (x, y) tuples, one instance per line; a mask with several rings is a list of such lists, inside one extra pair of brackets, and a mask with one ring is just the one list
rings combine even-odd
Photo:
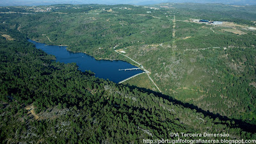
[(109, 81), (113, 81), (115, 83), (143, 72), (142, 70), (118, 70), (135, 67), (125, 61), (95, 60), (95, 58), (88, 54), (67, 51), (67, 47), (46, 45), (33, 40), (28, 41), (35, 44), (37, 49), (42, 49), (47, 54), (54, 55), (56, 57), (56, 61), (60, 61), (61, 63), (76, 63), (79, 70), (82, 72), (85, 70), (91, 70), (95, 73), (96, 77), (109, 79)]

